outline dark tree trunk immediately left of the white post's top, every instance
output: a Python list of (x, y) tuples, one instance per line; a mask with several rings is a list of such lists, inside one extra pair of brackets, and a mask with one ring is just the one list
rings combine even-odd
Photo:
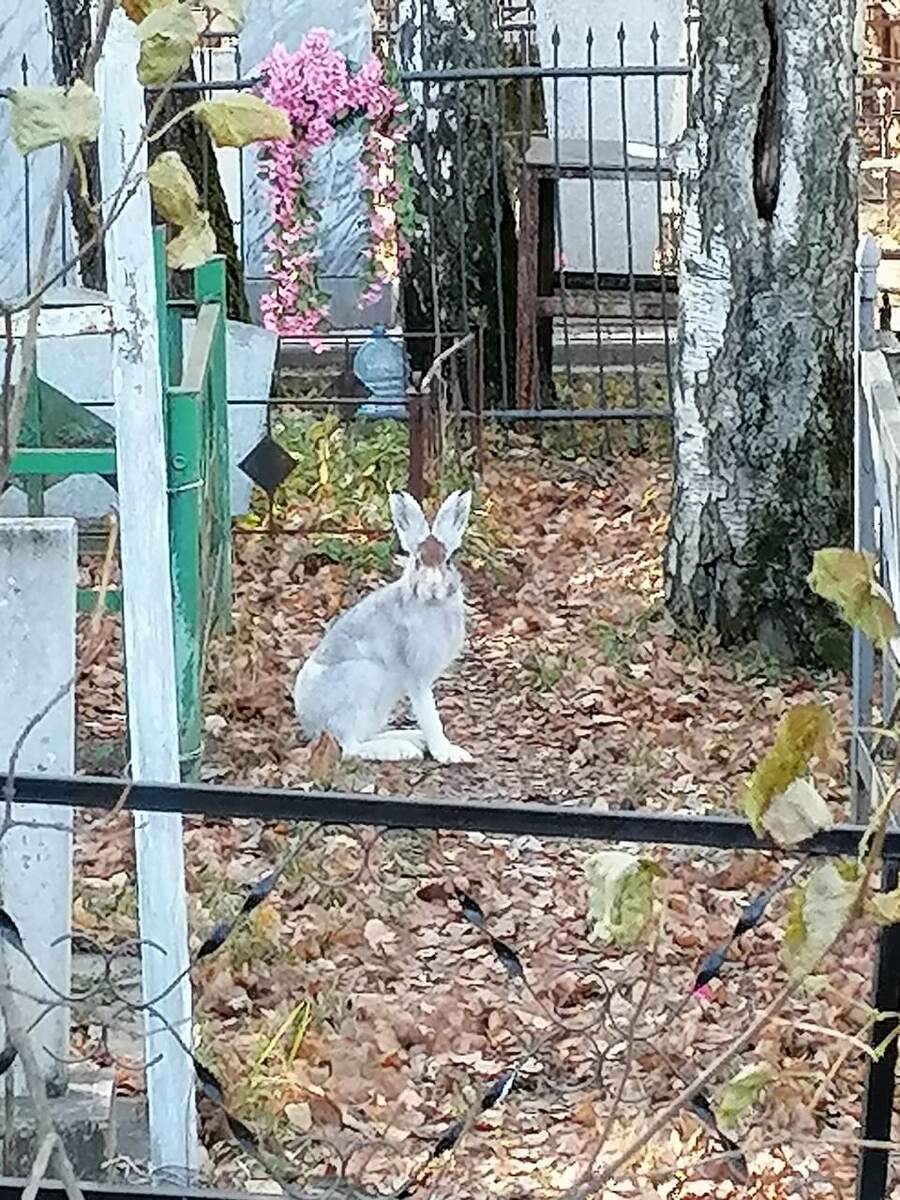
[[(91, 44), (90, 0), (46, 0), (53, 40), (53, 74), (60, 88), (67, 88), (80, 78), (84, 59)], [(82, 146), (86, 196), (82, 190), (82, 178), (76, 170), (68, 181), (68, 200), (72, 210), (78, 248), (83, 251), (79, 274), (86, 288), (102, 292), (106, 288), (103, 245), (89, 245), (96, 232), (94, 206), (100, 199), (100, 155), (96, 143)]]

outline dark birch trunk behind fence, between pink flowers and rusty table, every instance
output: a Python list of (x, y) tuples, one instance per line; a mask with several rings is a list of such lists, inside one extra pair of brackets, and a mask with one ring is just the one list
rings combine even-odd
[[(422, 0), (406, 11), (397, 42), (402, 70), (500, 65), (494, 10), (482, 0), (451, 0), (440, 11), (434, 0)], [(516, 224), (505, 169), (503, 83), (416, 84), (413, 92), (415, 203), (424, 224), (401, 281), (404, 328), (458, 334), (480, 325), (486, 402), (511, 403)], [(410, 340), (409, 350), (415, 367), (431, 365), (427, 338)]]

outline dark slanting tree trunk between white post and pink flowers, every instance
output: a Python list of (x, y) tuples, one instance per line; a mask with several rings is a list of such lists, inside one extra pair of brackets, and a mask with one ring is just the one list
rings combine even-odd
[[(197, 82), (193, 64), (180, 76), (181, 79)], [(198, 98), (193, 91), (172, 91), (163, 101), (154, 122), (155, 128), (162, 128), (173, 116), (190, 108)], [(148, 114), (154, 103), (150, 95), (146, 101)], [(158, 139), (150, 143), (150, 161), (163, 150), (176, 150), (181, 161), (191, 173), (200, 194), (200, 206), (209, 211), (210, 224), (216, 235), (216, 247), (226, 259), (226, 289), (228, 316), (232, 320), (250, 320), (250, 306), (244, 289), (244, 266), (238, 245), (234, 240), (234, 226), (228, 211), (222, 180), (218, 175), (216, 151), (204, 127), (194, 118), (185, 116)], [(190, 271), (169, 272), (169, 295), (176, 299), (190, 299), (193, 295), (193, 278)]]

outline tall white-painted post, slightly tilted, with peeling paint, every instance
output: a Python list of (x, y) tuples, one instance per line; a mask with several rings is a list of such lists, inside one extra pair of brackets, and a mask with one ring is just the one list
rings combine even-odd
[[(134, 154), (144, 124), (144, 94), (136, 73), (134, 25), (113, 12), (100, 62), (101, 178), (108, 199)], [(146, 169), (146, 150), (137, 156)], [(125, 332), (113, 349), (113, 395), (121, 528), (125, 658), (132, 775), (158, 782), (179, 779), (178, 712), (169, 572), (166, 445), (156, 324), (150, 193), (142, 184), (106, 239), (108, 289)], [(188, 962), (181, 816), (136, 814), (140, 936), (164, 949), (142, 950), (144, 997), (163, 996)], [(191, 1045), (187, 978), (156, 1003), (157, 1012)], [(151, 1012), (145, 1015), (150, 1157), (156, 1171), (197, 1168), (194, 1074), (191, 1058)]]

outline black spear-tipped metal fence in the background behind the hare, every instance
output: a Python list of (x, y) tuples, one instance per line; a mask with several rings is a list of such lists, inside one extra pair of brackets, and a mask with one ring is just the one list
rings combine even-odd
[[(529, 4), (504, 7), (484, 26), (469, 14), (467, 29), (462, 0), (458, 10), (442, 20), (427, 4), (421, 12), (401, 4), (376, 32), (413, 100), (422, 223), (401, 289), (413, 366), (424, 373), (448, 338), (473, 332), (484, 347), (481, 377), (475, 389), (466, 380), (457, 389), (469, 421), (511, 409), (517, 420), (539, 419), (551, 404), (580, 419), (658, 416), (677, 302), (678, 197), (667, 146), (684, 126), (690, 34), (662, 37), (653, 25), (629, 35), (600, 23), (560, 34)], [(236, 40), (212, 28), (194, 76), (174, 91), (209, 96), (254, 84)], [(214, 163), (206, 140), (200, 149), (206, 203)], [(24, 287), (50, 158), (54, 150), (22, 162)], [(215, 151), (215, 166), (254, 300), (265, 286), (247, 235), (254, 151)], [(66, 215), (60, 265), (71, 256)], [(64, 272), (61, 282), (73, 281)], [(350, 318), (365, 328), (368, 314)], [(342, 332), (330, 338), (338, 360)], [(286, 359), (328, 361), (302, 349), (286, 347)], [(340, 373), (331, 383), (337, 395)]]

